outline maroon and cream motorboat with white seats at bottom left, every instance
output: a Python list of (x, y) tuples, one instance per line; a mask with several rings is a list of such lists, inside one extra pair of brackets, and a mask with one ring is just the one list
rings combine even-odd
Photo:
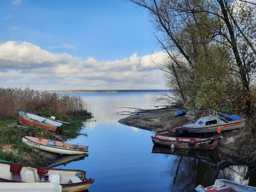
[(0, 182), (58, 183), (62, 186), (62, 192), (88, 190), (94, 182), (92, 178), (87, 179), (86, 172), (82, 170), (45, 168), (10, 162), (0, 162), (0, 167)]

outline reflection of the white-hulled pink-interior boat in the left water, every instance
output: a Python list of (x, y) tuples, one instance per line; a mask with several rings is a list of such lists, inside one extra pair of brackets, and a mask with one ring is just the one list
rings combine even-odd
[(60, 155), (56, 159), (52, 160), (51, 164), (48, 165), (48, 167), (56, 167), (59, 165), (69, 164), (74, 161), (80, 161), (83, 160), (85, 157), (87, 157), (88, 154), (78, 154), (78, 155)]

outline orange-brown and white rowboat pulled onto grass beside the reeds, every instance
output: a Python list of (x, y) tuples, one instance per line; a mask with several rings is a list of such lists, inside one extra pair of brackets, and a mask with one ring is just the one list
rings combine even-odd
[(60, 126), (62, 126), (62, 124), (69, 125), (69, 123), (67, 122), (62, 122), (59, 120), (55, 120), (53, 118), (48, 118), (48, 117), (36, 115), (34, 113), (28, 113), (23, 111), (19, 111), (19, 120), (20, 120), (20, 124), (22, 124), (23, 126), (46, 128), (58, 134), (62, 132), (62, 130), (60, 129)]

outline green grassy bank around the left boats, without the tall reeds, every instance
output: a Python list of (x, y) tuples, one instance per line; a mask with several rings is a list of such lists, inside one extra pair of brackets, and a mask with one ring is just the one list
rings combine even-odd
[[(40, 114), (42, 115), (42, 114)], [(80, 135), (83, 122), (91, 116), (60, 116), (57, 114), (45, 113), (45, 116), (55, 116), (57, 120), (69, 122), (70, 125), (63, 124), (62, 135), (65, 138), (76, 138)], [(22, 137), (26, 136), (27, 130), (33, 130), (35, 137), (46, 138), (49, 140), (58, 140), (50, 131), (45, 128), (20, 126), (18, 120), (0, 121), (0, 159), (27, 164), (34, 166), (43, 166), (47, 160), (40, 157), (38, 150), (22, 142)]]

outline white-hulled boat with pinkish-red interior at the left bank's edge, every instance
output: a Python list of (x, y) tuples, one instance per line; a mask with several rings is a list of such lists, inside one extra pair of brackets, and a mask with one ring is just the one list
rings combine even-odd
[(43, 138), (25, 136), (22, 138), (22, 141), (33, 148), (57, 154), (76, 155), (86, 154), (88, 152), (88, 146), (74, 145)]

